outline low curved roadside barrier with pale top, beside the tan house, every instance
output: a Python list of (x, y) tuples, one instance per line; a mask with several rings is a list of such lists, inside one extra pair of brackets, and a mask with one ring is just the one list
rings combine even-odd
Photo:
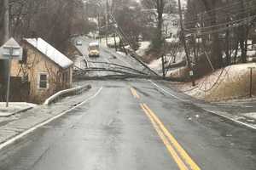
[(69, 88), (69, 89), (66, 89), (66, 90), (62, 90), (62, 91), (50, 96), (48, 99), (46, 99), (44, 101), (44, 105), (50, 105), (50, 104), (54, 103), (55, 101), (57, 101), (59, 99), (63, 99), (67, 96), (81, 94), (85, 90), (89, 90), (90, 88), (91, 88), (90, 85), (85, 85), (85, 86), (82, 86), (82, 87)]

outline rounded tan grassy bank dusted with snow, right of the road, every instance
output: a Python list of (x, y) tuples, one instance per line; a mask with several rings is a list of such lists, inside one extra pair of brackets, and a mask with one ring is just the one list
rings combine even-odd
[[(191, 82), (177, 82), (175, 85), (185, 94), (207, 101), (243, 98), (247, 97), (249, 94), (249, 67), (256, 67), (256, 64), (230, 65), (224, 69), (219, 69), (196, 80), (195, 87), (191, 86)], [(253, 71), (253, 84), (255, 83), (256, 70)], [(256, 87), (253, 87), (253, 94), (256, 94)]]

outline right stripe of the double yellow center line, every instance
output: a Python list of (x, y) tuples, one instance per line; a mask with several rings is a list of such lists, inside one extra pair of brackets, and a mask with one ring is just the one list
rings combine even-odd
[(148, 105), (143, 104), (143, 107), (148, 111), (148, 114), (153, 117), (154, 121), (158, 124), (161, 131), (166, 135), (167, 139), (170, 140), (174, 148), (177, 150), (178, 154), (183, 158), (183, 161), (185, 161), (186, 164), (189, 165), (190, 169), (200, 170), (201, 168), (196, 165), (195, 161), (193, 161), (189, 154), (185, 150), (183, 150), (183, 147), (180, 144), (178, 144), (177, 140), (167, 130), (164, 124), (160, 122), (158, 116), (156, 116), (154, 112), (149, 109)]

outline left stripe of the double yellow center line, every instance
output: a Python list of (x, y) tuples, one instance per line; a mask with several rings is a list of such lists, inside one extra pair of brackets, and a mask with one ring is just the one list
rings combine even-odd
[(174, 161), (176, 161), (177, 167), (179, 167), (179, 169), (181, 170), (188, 170), (188, 167), (186, 167), (182, 159), (177, 155), (177, 152), (172, 147), (172, 144), (170, 144), (170, 142), (166, 139), (166, 136), (164, 135), (164, 133), (162, 133), (162, 131), (160, 130), (160, 127), (158, 127), (156, 122), (154, 122), (154, 118), (150, 115), (150, 113), (148, 113), (147, 109), (144, 107), (143, 104), (141, 104), (141, 107), (145, 112), (146, 116), (148, 116), (149, 120), (152, 122), (154, 129), (160, 136), (160, 139), (162, 139), (163, 143), (166, 145), (166, 148), (171, 154), (172, 158), (174, 159)]

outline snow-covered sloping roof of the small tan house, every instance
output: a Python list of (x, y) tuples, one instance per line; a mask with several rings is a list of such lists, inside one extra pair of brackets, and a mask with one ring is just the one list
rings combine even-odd
[(64, 54), (61, 54), (60, 51), (52, 47), (48, 42), (45, 42), (42, 38), (25, 38), (24, 40), (32, 45), (32, 47), (37, 48), (50, 60), (54, 61), (56, 65), (61, 66), (61, 68), (66, 69), (73, 65), (71, 59), (68, 59)]

